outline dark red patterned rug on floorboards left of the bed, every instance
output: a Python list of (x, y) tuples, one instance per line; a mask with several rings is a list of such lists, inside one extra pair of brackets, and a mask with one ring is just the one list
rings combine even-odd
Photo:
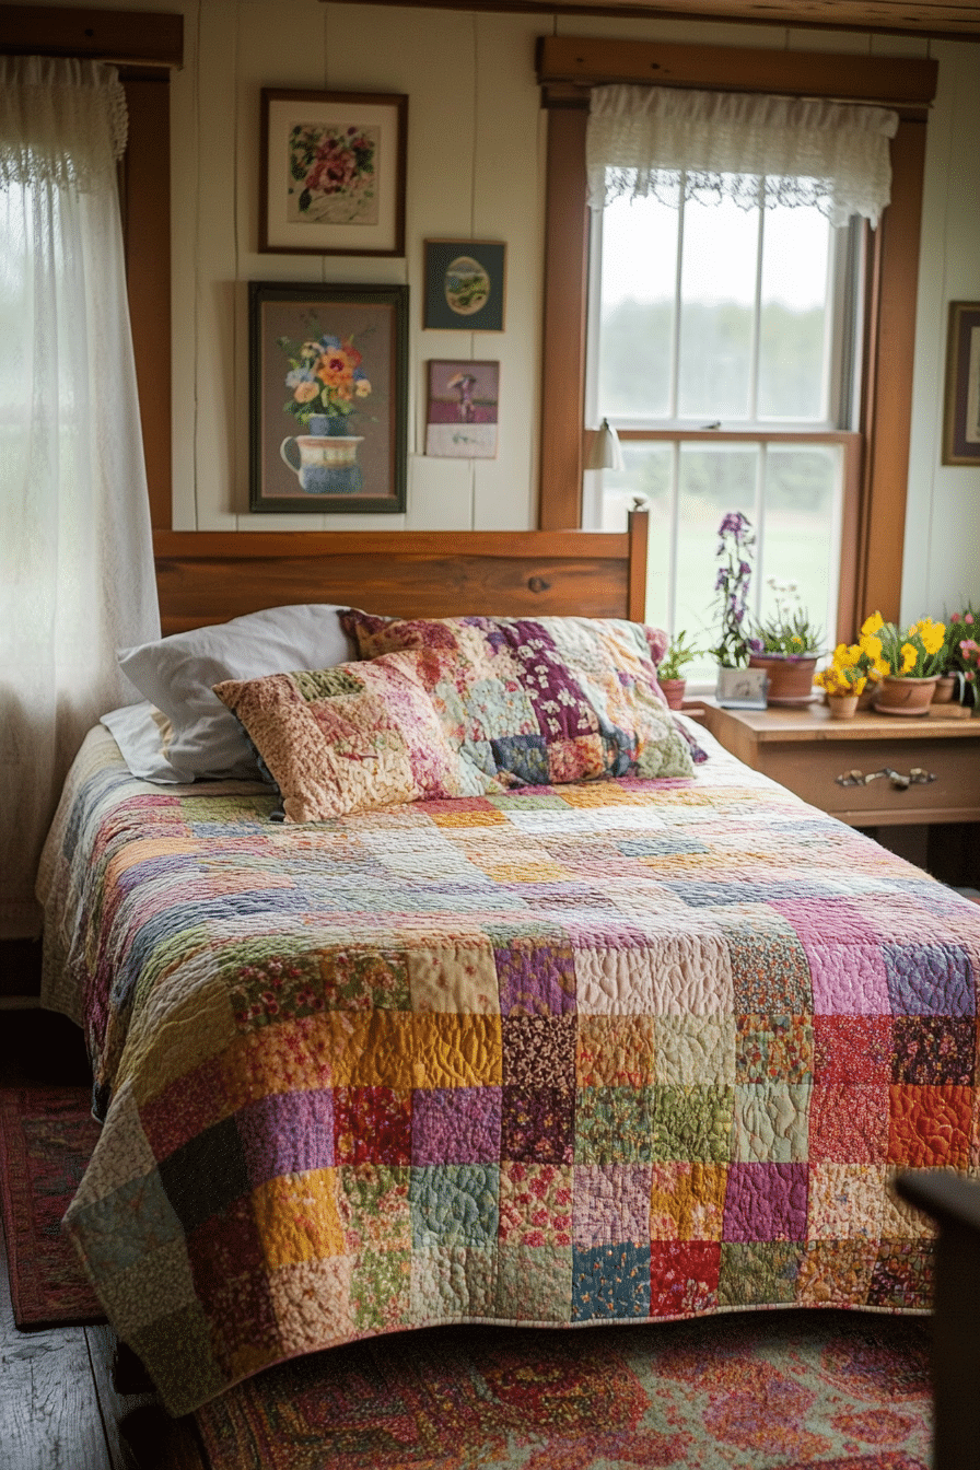
[(0, 1091), (0, 1208), (18, 1327), (104, 1322), (60, 1232), (98, 1138), (87, 1088)]

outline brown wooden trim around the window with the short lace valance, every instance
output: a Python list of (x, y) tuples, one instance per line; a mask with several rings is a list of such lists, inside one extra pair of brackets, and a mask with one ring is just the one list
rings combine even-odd
[[(840, 623), (852, 632), (874, 609), (886, 619), (896, 619), (908, 490), (926, 162), (924, 109), (934, 96), (937, 65), (920, 59), (842, 59), (836, 54), (796, 53), (807, 59), (801, 68), (798, 62), (788, 62), (793, 53), (786, 51), (638, 43), (627, 44), (624, 63), (624, 44), (557, 37), (545, 37), (539, 43), (539, 79), (545, 84), (548, 107), (548, 168), (538, 523), (548, 531), (582, 523), (589, 265), (585, 126), (589, 85), (597, 81), (636, 81), (636, 68), (649, 66), (657, 57), (664, 63), (664, 72), (669, 66), (671, 69), (671, 75), (663, 78), (666, 81), (683, 75), (688, 85), (754, 91), (771, 90), (771, 82), (763, 85), (763, 79), (770, 76), (773, 57), (777, 56), (780, 65), (788, 68), (786, 76), (805, 78), (807, 96), (839, 97), (843, 91), (840, 78), (846, 72), (849, 91), (845, 96), (851, 100), (861, 91), (861, 75), (867, 75), (865, 100), (880, 103), (887, 97), (895, 101), (899, 126), (892, 140), (892, 203), (879, 228), (870, 232), (860, 423), (862, 454), (857, 485), (845, 494)], [(704, 57), (701, 74), (696, 71), (699, 56)], [(627, 66), (630, 75), (617, 75), (616, 66)], [(542, 75), (542, 68), (547, 68), (547, 75)], [(790, 91), (786, 82), (779, 90)]]

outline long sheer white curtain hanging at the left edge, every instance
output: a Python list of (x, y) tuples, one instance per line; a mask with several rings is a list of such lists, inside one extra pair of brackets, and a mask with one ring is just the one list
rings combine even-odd
[(85, 731), (159, 637), (126, 306), (115, 68), (0, 57), (0, 935)]

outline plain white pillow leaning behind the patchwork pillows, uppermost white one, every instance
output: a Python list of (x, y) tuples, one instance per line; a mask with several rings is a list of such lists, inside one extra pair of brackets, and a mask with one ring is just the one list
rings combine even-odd
[(341, 610), (332, 603), (269, 607), (229, 623), (120, 648), (119, 666), (126, 678), (170, 722), (165, 745), (176, 773), (170, 779), (257, 779), (256, 757), (241, 725), (212, 685), (350, 663), (357, 653), (339, 625)]

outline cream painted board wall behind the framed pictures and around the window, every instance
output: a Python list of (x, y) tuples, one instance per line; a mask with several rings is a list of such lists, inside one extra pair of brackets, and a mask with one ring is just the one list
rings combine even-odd
[[(85, 0), (72, 0), (82, 4)], [(491, 15), (320, 0), (101, 0), (182, 10), (172, 94), (173, 513), (182, 529), (522, 528), (535, 523), (545, 135), (535, 37), (702, 41), (936, 56), (920, 266), (902, 616), (980, 601), (980, 469), (940, 465), (946, 310), (980, 300), (980, 46), (909, 37), (599, 16)], [(256, 251), (262, 87), (408, 94), (406, 260)], [(507, 241), (502, 334), (423, 332), (426, 238)], [(250, 516), (247, 282), (407, 282), (404, 516)], [(425, 365), (501, 362), (497, 460), (426, 459)]]

